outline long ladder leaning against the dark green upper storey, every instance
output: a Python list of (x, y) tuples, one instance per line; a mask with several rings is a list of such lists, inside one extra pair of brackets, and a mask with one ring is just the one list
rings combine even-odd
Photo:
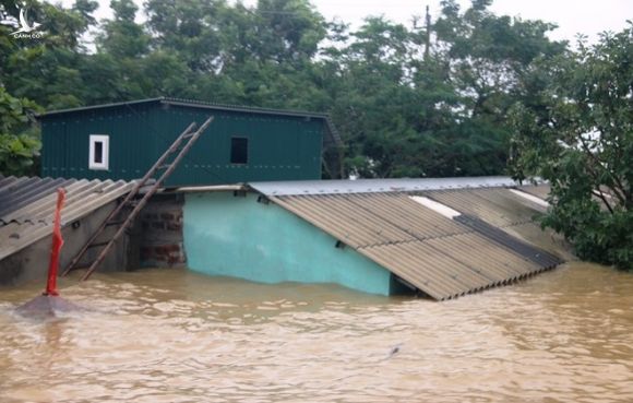
[[(123, 201), (121, 201), (121, 203), (119, 203), (119, 205), (115, 210), (112, 210), (110, 214), (108, 214), (106, 220), (101, 223), (101, 225), (97, 228), (97, 230), (95, 230), (95, 233), (91, 236), (91, 238), (79, 251), (79, 253), (73, 258), (73, 260), (70, 262), (70, 264), (64, 270), (62, 275), (68, 275), (68, 273), (70, 273), (73, 270), (87, 269), (86, 273), (81, 277), (81, 281), (85, 281), (93, 274), (95, 270), (97, 270), (98, 265), (104, 261), (104, 259), (106, 258), (106, 256), (108, 254), (115, 242), (121, 237), (121, 235), (123, 235), (123, 233), (132, 224), (139, 212), (141, 212), (141, 210), (145, 206), (150, 198), (152, 198), (152, 195), (156, 193), (156, 191), (158, 190), (160, 185), (163, 185), (165, 179), (167, 179), (167, 177), (171, 175), (174, 169), (176, 169), (178, 163), (180, 163), (180, 159), (182, 159), (182, 157), (189, 152), (191, 146), (195, 143), (195, 141), (204, 132), (204, 130), (206, 130), (206, 128), (211, 125), (213, 117), (210, 117), (200, 127), (200, 129), (195, 131), (193, 131), (195, 129), (195, 122), (192, 122), (191, 125), (189, 125), (187, 129), (184, 129), (182, 133), (180, 133), (180, 135), (176, 139), (176, 141), (174, 141), (171, 146), (169, 146), (169, 149), (167, 149), (167, 151), (160, 156), (160, 158), (158, 158), (158, 161), (152, 166), (152, 168), (150, 168), (147, 174), (145, 174), (145, 176), (134, 185), (134, 187), (123, 199)], [(176, 155), (176, 157), (174, 157), (174, 159), (169, 163), (168, 162), (169, 157), (174, 155)], [(163, 170), (163, 174), (160, 174), (158, 179), (152, 181), (156, 173), (158, 173), (159, 170)], [(134, 200), (136, 194), (139, 194), (139, 191), (146, 186), (148, 186), (148, 189), (143, 194), (143, 198), (141, 200)], [(130, 214), (126, 220), (118, 221), (118, 214), (121, 211), (123, 211), (123, 209), (127, 208), (132, 208), (132, 211), (130, 212)], [(101, 235), (104, 230), (106, 230), (106, 228), (115, 225), (120, 225), (119, 229), (109, 240), (96, 242), (99, 235)], [(92, 263), (89, 263), (89, 265), (79, 266), (81, 259), (86, 254), (88, 250), (93, 248), (103, 248), (97, 259), (94, 260)]]

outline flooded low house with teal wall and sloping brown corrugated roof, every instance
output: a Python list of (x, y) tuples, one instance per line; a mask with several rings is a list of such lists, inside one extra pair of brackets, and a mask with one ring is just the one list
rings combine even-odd
[[(510, 178), (253, 182), (184, 194), (191, 270), (449, 299), (569, 257), (535, 222), (542, 189)], [(218, 259), (218, 257), (222, 257)]]

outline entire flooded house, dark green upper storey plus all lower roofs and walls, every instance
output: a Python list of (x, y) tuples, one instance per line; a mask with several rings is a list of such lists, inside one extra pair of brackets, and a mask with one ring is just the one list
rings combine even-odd
[(0, 233), (8, 239), (0, 282), (44, 273), (45, 264), (32, 262), (47, 258), (56, 187), (70, 199), (64, 265), (131, 191), (131, 180), (187, 125), (208, 116), (215, 121), (101, 271), (178, 266), (444, 300), (570, 258), (535, 222), (547, 209), (546, 185), (504, 177), (322, 180), (341, 174), (341, 140), (325, 115), (156, 98), (41, 117), (41, 169), (51, 178), (0, 181)]

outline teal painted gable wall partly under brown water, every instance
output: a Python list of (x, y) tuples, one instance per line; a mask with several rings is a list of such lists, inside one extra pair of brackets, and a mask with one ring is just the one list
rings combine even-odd
[(391, 273), (258, 195), (189, 193), (183, 206), (188, 265), (210, 275), (262, 283), (337, 283), (390, 295)]

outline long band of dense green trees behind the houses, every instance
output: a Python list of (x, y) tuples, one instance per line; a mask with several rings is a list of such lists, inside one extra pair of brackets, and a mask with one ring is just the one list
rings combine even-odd
[[(564, 44), (546, 37), (551, 25), (497, 16), (490, 3), (444, 0), (410, 26), (368, 17), (350, 29), (309, 0), (147, 0), (142, 11), (112, 0), (100, 22), (92, 0), (31, 0), (45, 35), (13, 38), (0, 26), (0, 83), (45, 109), (165, 95), (324, 111), (350, 174), (502, 174), (509, 107), (532, 96), (532, 62)], [(15, 21), (15, 3), (0, 4)]]

